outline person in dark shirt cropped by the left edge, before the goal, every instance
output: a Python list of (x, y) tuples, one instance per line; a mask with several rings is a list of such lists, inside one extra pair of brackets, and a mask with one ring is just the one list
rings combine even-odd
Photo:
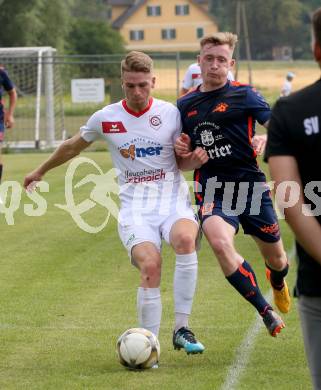
[[(9, 107), (7, 110), (4, 109), (4, 103), (2, 100), (3, 90), (7, 91), (9, 95)], [(0, 64), (0, 182), (3, 172), (3, 163), (1, 158), (2, 143), (4, 139), (5, 128), (11, 128), (14, 124), (14, 109), (17, 102), (17, 92), (13, 82), (10, 80), (4, 67)]]

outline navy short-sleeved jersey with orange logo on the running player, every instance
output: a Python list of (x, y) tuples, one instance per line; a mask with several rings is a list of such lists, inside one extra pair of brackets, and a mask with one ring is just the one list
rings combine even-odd
[(209, 161), (200, 168), (200, 181), (214, 176), (223, 182), (265, 181), (252, 137), (255, 122), (269, 120), (270, 107), (254, 88), (227, 82), (210, 92), (196, 89), (180, 98), (177, 107), (193, 149), (200, 146), (209, 155)]

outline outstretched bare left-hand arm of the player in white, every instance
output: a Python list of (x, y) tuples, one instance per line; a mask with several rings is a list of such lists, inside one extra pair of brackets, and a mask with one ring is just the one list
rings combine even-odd
[(48, 171), (71, 160), (90, 144), (91, 142), (85, 141), (79, 133), (67, 139), (53, 152), (48, 160), (25, 177), (24, 188), (32, 190), (32, 183), (40, 181)]

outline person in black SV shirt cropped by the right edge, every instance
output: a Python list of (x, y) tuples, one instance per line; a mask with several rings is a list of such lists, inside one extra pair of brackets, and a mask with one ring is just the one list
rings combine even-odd
[[(313, 14), (312, 27), (313, 54), (321, 68), (321, 8)], [(266, 150), (276, 186), (291, 182), (292, 188), (293, 184), (297, 187), (295, 194), (287, 194), (298, 199), (293, 206), (287, 207), (283, 199), (277, 201), (296, 237), (295, 295), (315, 390), (321, 389), (321, 216), (316, 203), (321, 193), (320, 96), (321, 79), (279, 99), (272, 112)]]

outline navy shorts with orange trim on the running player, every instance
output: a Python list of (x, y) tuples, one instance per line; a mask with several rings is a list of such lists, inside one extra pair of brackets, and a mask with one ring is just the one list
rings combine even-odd
[[(199, 219), (201, 224), (213, 216), (218, 215), (235, 228), (236, 233), (241, 224), (244, 233), (258, 237), (264, 242), (277, 242), (280, 240), (280, 230), (271, 194), (265, 183), (260, 183), (264, 192), (256, 194), (253, 186), (248, 193), (238, 195), (226, 191), (225, 194), (214, 195), (214, 200), (204, 202), (203, 196), (196, 198), (199, 206)], [(262, 190), (262, 191), (263, 191)], [(202, 199), (202, 200), (201, 200)]]

